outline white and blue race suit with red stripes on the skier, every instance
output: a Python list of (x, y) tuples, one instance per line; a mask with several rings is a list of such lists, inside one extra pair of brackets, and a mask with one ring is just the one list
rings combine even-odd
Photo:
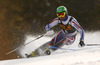
[(61, 27), (61, 31), (51, 40), (52, 45), (57, 44), (64, 38), (66, 38), (66, 45), (72, 44), (75, 41), (77, 32), (81, 35), (80, 40), (84, 40), (84, 30), (74, 17), (68, 15), (63, 21), (57, 17), (50, 24), (46, 25), (46, 30), (48, 31), (56, 25)]

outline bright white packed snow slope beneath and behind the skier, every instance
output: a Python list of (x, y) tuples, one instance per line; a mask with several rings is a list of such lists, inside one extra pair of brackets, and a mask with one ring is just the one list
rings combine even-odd
[[(27, 36), (25, 43), (36, 37)], [(100, 65), (100, 46), (78, 47), (80, 35), (70, 46), (63, 46), (48, 56), (34, 58), (21, 58), (0, 61), (0, 65)], [(52, 37), (42, 37), (19, 50), (19, 54), (25, 57), (25, 53), (30, 53), (43, 43), (51, 40)], [(100, 44), (100, 32), (86, 32), (85, 44)]]

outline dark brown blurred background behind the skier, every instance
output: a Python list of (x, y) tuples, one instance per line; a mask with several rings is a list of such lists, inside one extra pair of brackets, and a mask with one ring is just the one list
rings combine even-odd
[(0, 0), (0, 60), (17, 58), (16, 52), (5, 53), (22, 44), (26, 34), (44, 33), (60, 5), (85, 31), (100, 30), (100, 0)]

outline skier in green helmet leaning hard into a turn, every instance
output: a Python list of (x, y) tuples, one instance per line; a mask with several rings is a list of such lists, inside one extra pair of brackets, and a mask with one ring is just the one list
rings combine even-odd
[[(50, 29), (56, 25), (59, 25), (61, 27), (61, 30), (48, 44), (52, 48), (47, 49), (45, 53), (47, 55), (50, 55), (50, 50), (54, 51), (57, 50), (58, 47), (61, 47), (63, 45), (71, 45), (75, 41), (77, 31), (81, 35), (79, 45), (81, 47), (85, 46), (84, 30), (74, 17), (68, 15), (67, 8), (65, 6), (59, 6), (56, 9), (56, 14), (57, 17), (50, 24), (47, 24), (45, 28), (47, 33), (50, 32)], [(32, 57), (34, 56), (34, 52), (32, 52), (30, 55), (26, 54), (26, 56)]]

